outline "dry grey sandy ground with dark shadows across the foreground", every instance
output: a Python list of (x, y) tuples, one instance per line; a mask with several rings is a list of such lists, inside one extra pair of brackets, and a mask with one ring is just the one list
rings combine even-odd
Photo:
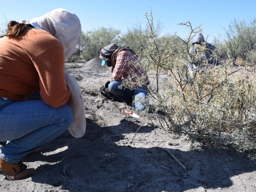
[[(73, 138), (67, 131), (41, 153), (25, 156), (23, 162), (37, 175), (17, 181), (0, 175), (1, 192), (256, 191), (255, 158), (199, 144), (192, 148), (186, 136), (157, 126), (154, 114), (102, 98), (99, 87), (111, 71), (99, 62), (66, 64), (82, 88), (84, 137)], [(140, 118), (124, 114), (125, 109)]]

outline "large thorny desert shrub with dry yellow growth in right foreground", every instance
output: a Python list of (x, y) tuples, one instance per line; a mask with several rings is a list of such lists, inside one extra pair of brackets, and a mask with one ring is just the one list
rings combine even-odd
[[(226, 60), (218, 67), (189, 76), (190, 42), (201, 31), (200, 26), (193, 28), (189, 21), (181, 23), (189, 29), (187, 39), (176, 35), (160, 37), (154, 28), (152, 12), (146, 13), (146, 17), (148, 30), (143, 35), (147, 42), (142, 62), (148, 73), (155, 73), (155, 80), (148, 86), (148, 108), (156, 113), (161, 126), (207, 145), (255, 150), (253, 72), (246, 67), (232, 68), (232, 61)], [(218, 53), (212, 57), (217, 58)], [(160, 83), (162, 74), (170, 76)]]

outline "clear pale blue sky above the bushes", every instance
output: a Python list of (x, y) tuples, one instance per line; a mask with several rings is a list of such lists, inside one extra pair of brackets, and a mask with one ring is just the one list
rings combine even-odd
[(56, 8), (65, 8), (76, 13), (83, 31), (112, 27), (121, 32), (138, 22), (144, 27), (145, 13), (150, 12), (151, 8), (154, 19), (164, 26), (163, 34), (174, 34), (176, 31), (177, 35), (186, 38), (189, 34), (188, 28), (178, 23), (189, 20), (193, 27), (202, 25), (203, 35), (209, 36), (209, 42), (213, 37), (224, 37), (223, 28), (228, 28), (232, 20), (249, 22), (256, 18), (255, 0), (2, 0), (0, 24), (6, 23), (6, 20), (31, 20)]

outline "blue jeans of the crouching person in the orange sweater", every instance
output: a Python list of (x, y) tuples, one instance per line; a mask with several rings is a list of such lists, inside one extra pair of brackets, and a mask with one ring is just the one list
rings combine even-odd
[(44, 103), (39, 92), (28, 101), (4, 100), (0, 97), (0, 157), (18, 163), (23, 156), (40, 148), (65, 132), (73, 122), (68, 105), (52, 108)]

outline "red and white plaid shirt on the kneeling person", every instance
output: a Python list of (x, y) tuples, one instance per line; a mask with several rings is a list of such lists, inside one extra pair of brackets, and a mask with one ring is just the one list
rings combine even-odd
[(135, 83), (135, 86), (128, 87), (129, 89), (138, 89), (138, 78), (145, 76), (145, 84), (150, 83), (148, 75), (145, 73), (145, 70), (142, 68), (138, 57), (132, 54), (129, 51), (121, 51), (118, 53), (116, 58), (116, 65), (113, 70), (111, 81), (117, 80), (128, 80), (131, 83)]

